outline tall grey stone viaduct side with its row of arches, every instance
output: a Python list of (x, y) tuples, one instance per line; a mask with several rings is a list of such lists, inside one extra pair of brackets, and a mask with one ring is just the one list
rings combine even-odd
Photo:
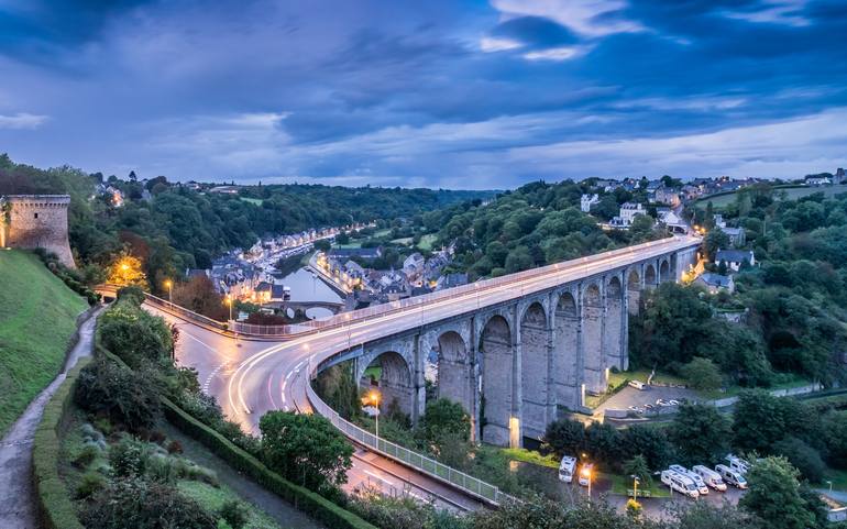
[(413, 421), (426, 407), (429, 378), (437, 396), (469, 412), (474, 439), (519, 447), (524, 438), (540, 439), (559, 407), (580, 409), (586, 393), (604, 392), (610, 368), (627, 368), (628, 319), (641, 293), (679, 280), (696, 252), (631, 262), (400, 331), (327, 365), (352, 359), (360, 384), (369, 384), (370, 366), (380, 366), (383, 403), (396, 399)]

